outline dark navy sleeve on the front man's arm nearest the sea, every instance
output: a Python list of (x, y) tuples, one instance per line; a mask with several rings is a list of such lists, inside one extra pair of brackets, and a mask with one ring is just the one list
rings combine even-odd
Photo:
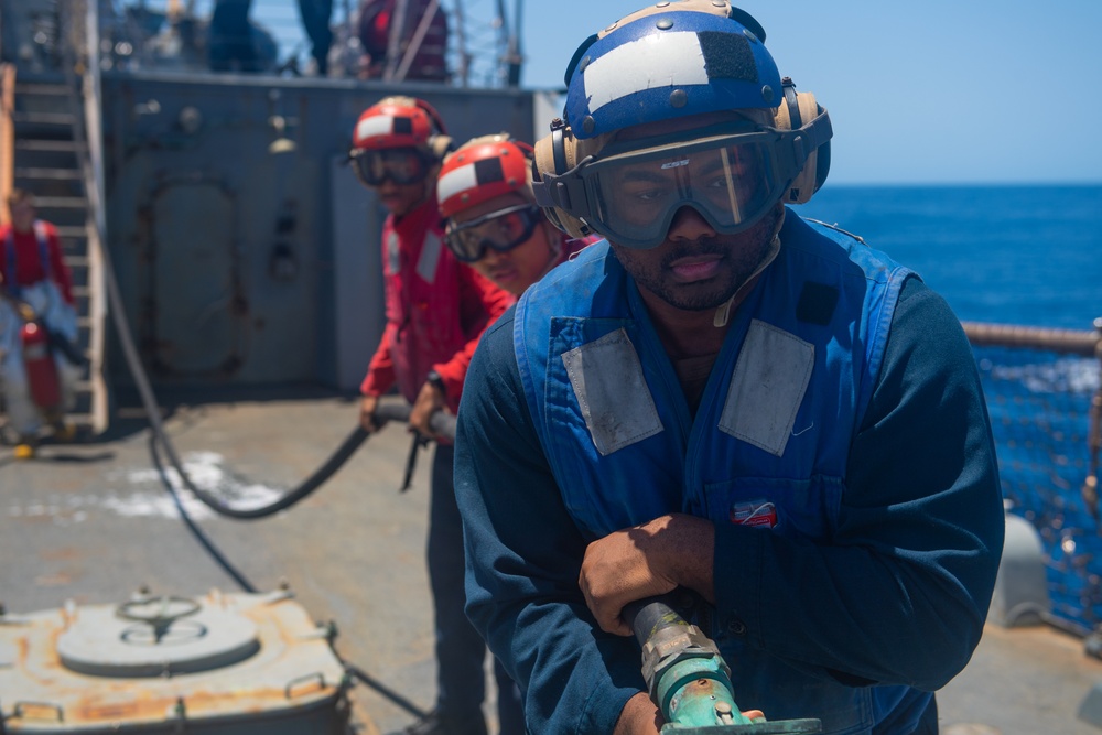
[(980, 640), (1004, 523), (972, 349), (944, 300), (911, 279), (850, 447), (832, 541), (717, 527), (720, 624), (843, 683), (939, 689)]

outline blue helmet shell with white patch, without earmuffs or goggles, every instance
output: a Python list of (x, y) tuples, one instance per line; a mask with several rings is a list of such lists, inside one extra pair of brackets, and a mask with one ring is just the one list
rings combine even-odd
[(761, 26), (727, 2), (659, 2), (579, 48), (566, 75), (566, 125), (579, 140), (701, 112), (784, 99)]

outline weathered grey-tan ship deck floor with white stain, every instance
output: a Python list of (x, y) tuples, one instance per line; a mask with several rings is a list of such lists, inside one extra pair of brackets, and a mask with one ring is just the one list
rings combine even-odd
[[(256, 497), (298, 485), (357, 415), (355, 401), (323, 392), (160, 399), (196, 482)], [(106, 436), (46, 443), (33, 461), (0, 447), (0, 603), (8, 612), (67, 599), (120, 603), (142, 585), (185, 596), (240, 588), (182, 522), (154, 469), (142, 413), (120, 413)], [(316, 493), (270, 518), (239, 521), (184, 505), (253, 587), (285, 583), (315, 619), (336, 624), (337, 651), (372, 682), (355, 688), (358, 709), (383, 733), (412, 722), (434, 696), (423, 563), (429, 464), (422, 454), (411, 489), (400, 494), (408, 448), (403, 429), (388, 426)], [(938, 694), (941, 732), (1098, 733), (1078, 712), (1100, 682), (1102, 661), (1079, 638), (1047, 626), (988, 625), (971, 663)], [(487, 715), (493, 722), (490, 707)]]

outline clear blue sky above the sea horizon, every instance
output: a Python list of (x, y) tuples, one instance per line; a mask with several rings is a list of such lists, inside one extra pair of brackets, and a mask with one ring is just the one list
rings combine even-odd
[[(583, 39), (645, 4), (525, 2), (523, 85), (561, 86)], [(1102, 183), (1102, 0), (741, 7), (830, 110), (832, 182)]]

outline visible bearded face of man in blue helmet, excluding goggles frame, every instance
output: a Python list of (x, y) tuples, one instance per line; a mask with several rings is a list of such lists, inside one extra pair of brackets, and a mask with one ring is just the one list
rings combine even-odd
[[(723, 119), (723, 114), (711, 114), (639, 126), (622, 133), (618, 140), (681, 132)], [(691, 161), (685, 162), (685, 172), (692, 165)], [(753, 199), (759, 176), (757, 165), (753, 162), (732, 161), (730, 170), (737, 172), (737, 198)], [(656, 199), (660, 201), (665, 196), (665, 182), (657, 181), (656, 175), (673, 176), (674, 171), (676, 169), (659, 167), (657, 172), (636, 175), (637, 172), (626, 170), (625, 175), (634, 179), (623, 182), (623, 187), (618, 187), (627, 195), (615, 207), (618, 216), (629, 219), (653, 216), (650, 208), (655, 206)], [(716, 173), (722, 174), (706, 170), (692, 171), (698, 180), (705, 181)], [(668, 184), (677, 185), (672, 181)], [(704, 191), (710, 188), (704, 187)], [(723, 196), (730, 196), (730, 190), (715, 188)], [(721, 235), (694, 208), (682, 206), (674, 214), (666, 239), (659, 246), (644, 250), (619, 246), (612, 239), (609, 242), (617, 259), (641, 289), (676, 309), (704, 311), (730, 300), (767, 257), (769, 242), (782, 212), (782, 205), (778, 204), (766, 210), (748, 228), (735, 235)]]

